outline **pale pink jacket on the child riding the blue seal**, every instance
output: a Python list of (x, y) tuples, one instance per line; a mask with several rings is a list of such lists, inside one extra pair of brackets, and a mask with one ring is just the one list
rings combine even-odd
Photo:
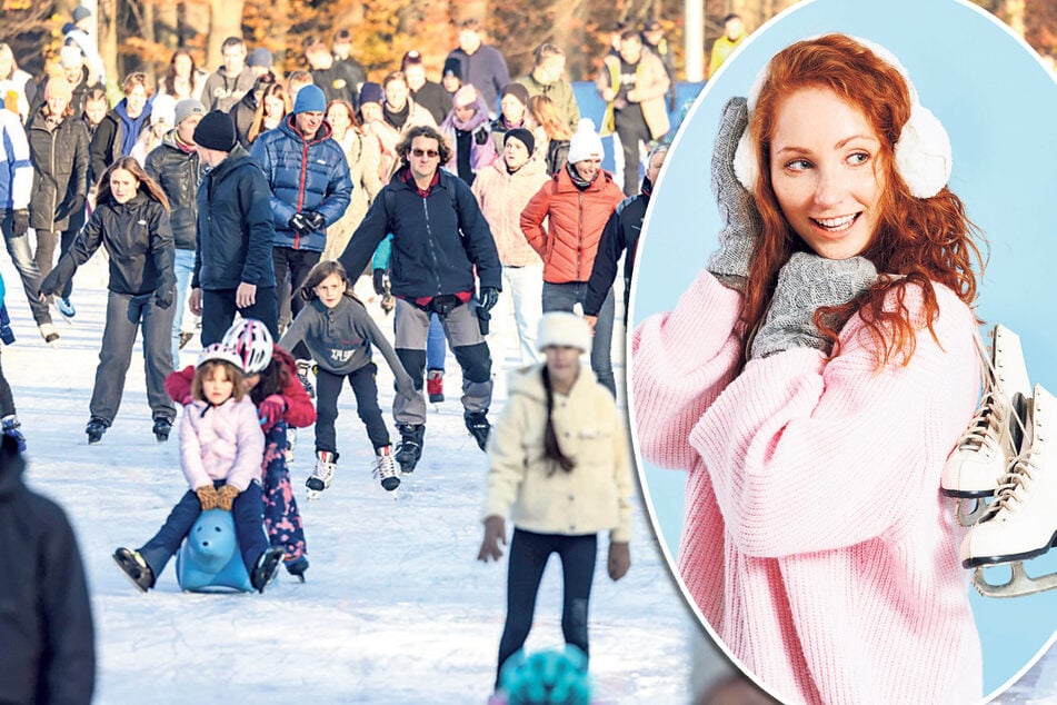
[(191, 489), (226, 480), (246, 489), (260, 477), (265, 434), (249, 396), (220, 406), (191, 401), (180, 420), (180, 464)]

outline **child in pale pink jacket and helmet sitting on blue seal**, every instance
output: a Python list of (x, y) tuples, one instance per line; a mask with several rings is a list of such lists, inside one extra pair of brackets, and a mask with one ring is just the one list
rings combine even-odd
[(279, 570), (283, 550), (269, 547), (265, 536), (259, 479), (265, 436), (257, 409), (243, 391), (242, 361), (235, 350), (221, 344), (202, 350), (191, 397), (180, 421), (180, 465), (190, 489), (149, 542), (138, 550), (122, 546), (113, 559), (146, 593), (199, 515), (219, 508), (233, 514), (242, 563), (250, 583), (263, 593)]

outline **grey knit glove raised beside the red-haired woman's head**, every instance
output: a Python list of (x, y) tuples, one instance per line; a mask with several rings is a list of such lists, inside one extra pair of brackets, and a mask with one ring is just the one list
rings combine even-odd
[(734, 155), (748, 123), (749, 111), (745, 98), (728, 100), (712, 149), (712, 193), (716, 195), (719, 215), (726, 225), (719, 231), (719, 250), (708, 258), (707, 269), (719, 281), (738, 291), (745, 291), (756, 238), (762, 229), (752, 195), (734, 173)]

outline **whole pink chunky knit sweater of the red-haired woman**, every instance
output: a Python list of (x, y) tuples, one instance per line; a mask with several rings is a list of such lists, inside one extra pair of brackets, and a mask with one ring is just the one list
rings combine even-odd
[[(939, 493), (979, 396), (971, 311), (878, 369), (854, 317), (827, 361), (794, 348), (737, 378), (741, 295), (701, 272), (632, 341), (642, 455), (689, 470), (679, 572), (708, 624), (785, 703), (973, 703), (980, 643)], [(920, 290), (910, 289), (920, 321)], [(860, 335), (861, 332), (861, 335)]]

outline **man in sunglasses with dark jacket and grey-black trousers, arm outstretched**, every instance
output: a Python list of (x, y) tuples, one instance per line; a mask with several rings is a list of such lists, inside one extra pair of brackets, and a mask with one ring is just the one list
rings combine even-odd
[(421, 457), (426, 435), (422, 381), (431, 314), (440, 316), (462, 368), (467, 430), (485, 449), (491, 429), (487, 414), (492, 391), (485, 334), (489, 311), (499, 298), (501, 267), (491, 230), (470, 187), (440, 168), (451, 159), (451, 146), (437, 128), (411, 127), (397, 152), (400, 168), (375, 198), (340, 261), (346, 271), (363, 271), (378, 244), (392, 234), (393, 347), (418, 391), (410, 399), (397, 396), (392, 405), (401, 436), (396, 459), (410, 473)]

